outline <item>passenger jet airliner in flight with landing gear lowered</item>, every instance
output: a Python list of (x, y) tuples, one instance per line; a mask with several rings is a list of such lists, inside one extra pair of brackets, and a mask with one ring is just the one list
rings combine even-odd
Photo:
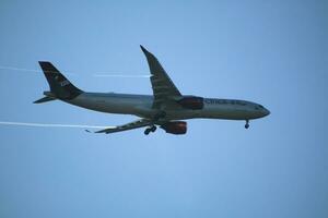
[(270, 111), (263, 106), (235, 99), (203, 98), (183, 95), (172, 82), (157, 58), (140, 46), (149, 69), (153, 95), (131, 95), (116, 93), (87, 93), (75, 87), (50, 62), (39, 61), (39, 65), (48, 81), (50, 90), (45, 97), (34, 101), (43, 104), (62, 100), (78, 107), (106, 113), (132, 114), (140, 119), (95, 133), (116, 133), (145, 128), (144, 134), (155, 132), (157, 126), (171, 134), (186, 134), (188, 119), (225, 119), (245, 120), (245, 129), (249, 120), (263, 118)]

